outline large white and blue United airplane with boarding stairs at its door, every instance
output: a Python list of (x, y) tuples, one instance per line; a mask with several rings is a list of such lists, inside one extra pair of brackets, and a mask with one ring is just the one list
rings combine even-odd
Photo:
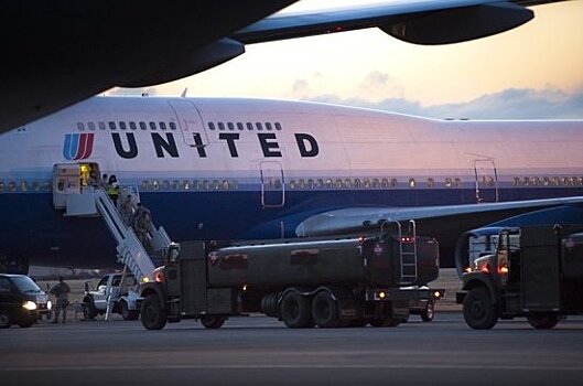
[[(93, 97), (0, 135), (0, 256), (115, 266), (99, 217), (53, 206), (55, 165), (133, 186), (176, 242), (583, 224), (583, 120), (435, 120), (255, 98)], [(80, 179), (80, 181), (79, 181)], [(69, 186), (71, 187), (71, 186)]]

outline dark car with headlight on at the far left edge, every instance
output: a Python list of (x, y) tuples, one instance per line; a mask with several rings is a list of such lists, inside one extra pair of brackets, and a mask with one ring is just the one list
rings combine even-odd
[(51, 308), (46, 293), (28, 276), (0, 275), (0, 329), (11, 324), (29, 328)]

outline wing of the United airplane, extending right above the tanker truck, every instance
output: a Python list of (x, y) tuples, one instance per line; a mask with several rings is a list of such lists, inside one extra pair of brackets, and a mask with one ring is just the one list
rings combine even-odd
[(347, 207), (314, 214), (295, 228), (299, 237), (378, 232), (384, 222), (414, 219), (419, 235), (440, 243), (443, 267), (454, 267), (455, 246), (467, 230), (488, 226), (583, 224), (583, 196), (424, 207)]

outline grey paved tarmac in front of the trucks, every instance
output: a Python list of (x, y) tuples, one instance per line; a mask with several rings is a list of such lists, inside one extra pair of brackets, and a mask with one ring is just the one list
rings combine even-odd
[(473, 331), (457, 312), (398, 328), (290, 330), (262, 317), (220, 330), (194, 321), (41, 322), (0, 330), (11, 385), (581, 385), (583, 318)]

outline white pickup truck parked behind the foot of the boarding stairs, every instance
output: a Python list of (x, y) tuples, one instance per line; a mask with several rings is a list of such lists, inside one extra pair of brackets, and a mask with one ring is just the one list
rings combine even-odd
[(111, 303), (111, 311), (121, 314), (123, 320), (138, 319), (140, 311), (136, 307), (138, 294), (134, 292), (136, 278), (133, 275), (126, 275), (121, 282), (122, 274), (108, 274), (101, 278), (94, 290), (89, 289), (89, 283), (85, 282), (85, 297), (83, 298), (83, 315), (85, 320), (93, 320), (95, 317), (107, 312), (108, 302)]

